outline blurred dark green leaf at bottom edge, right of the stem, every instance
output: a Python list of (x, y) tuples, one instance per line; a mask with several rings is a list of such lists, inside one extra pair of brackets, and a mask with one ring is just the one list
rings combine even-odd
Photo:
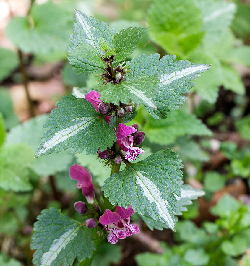
[(102, 241), (91, 263), (91, 266), (100, 266), (100, 262), (102, 266), (109, 266), (111, 264), (117, 265), (121, 259), (121, 246), (112, 245)]

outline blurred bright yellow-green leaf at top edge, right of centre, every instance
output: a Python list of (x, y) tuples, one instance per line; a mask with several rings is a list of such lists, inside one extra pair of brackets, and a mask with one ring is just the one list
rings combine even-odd
[(156, 0), (149, 9), (153, 40), (168, 53), (184, 55), (201, 43), (201, 11), (194, 0)]

